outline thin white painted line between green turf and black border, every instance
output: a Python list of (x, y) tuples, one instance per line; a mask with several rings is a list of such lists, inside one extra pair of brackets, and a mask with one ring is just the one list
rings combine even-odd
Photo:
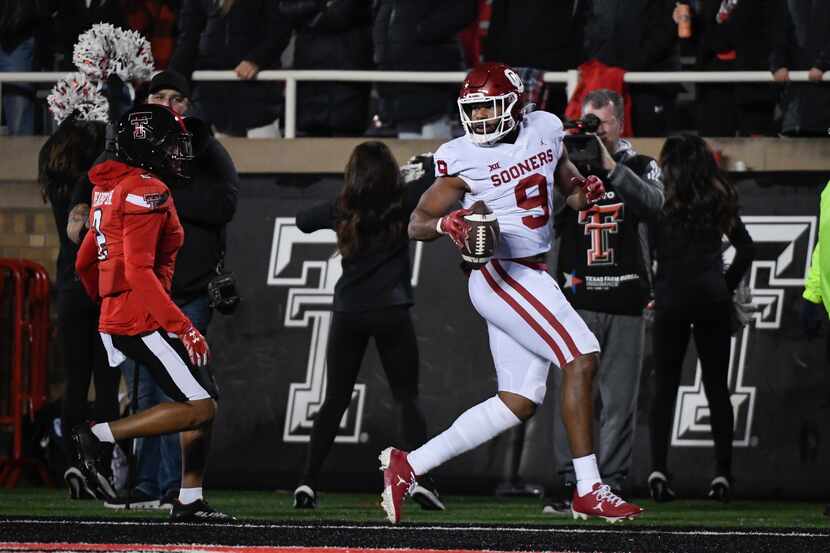
[[(171, 527), (167, 521), (131, 521), (131, 520), (71, 520), (71, 519), (0, 519), (0, 527), (4, 522), (15, 524), (68, 524), (84, 526), (164, 526)], [(176, 523), (175, 526), (204, 527), (200, 523)], [(505, 532), (505, 533), (538, 533), (538, 534), (612, 534), (612, 535), (660, 535), (660, 536), (745, 536), (771, 538), (828, 538), (830, 533), (809, 532), (806, 530), (774, 531), (774, 530), (660, 530), (660, 529), (629, 529), (621, 526), (613, 528), (586, 527), (586, 528), (539, 528), (521, 526), (394, 526), (391, 524), (357, 525), (357, 524), (294, 524), (294, 523), (211, 523), (211, 528), (252, 528), (252, 529), (286, 529), (286, 530), (376, 530), (400, 532)]]

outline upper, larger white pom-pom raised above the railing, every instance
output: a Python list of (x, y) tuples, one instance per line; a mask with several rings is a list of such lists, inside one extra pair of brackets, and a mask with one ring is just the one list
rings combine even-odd
[(72, 61), (82, 73), (99, 81), (112, 74), (123, 81), (146, 81), (155, 64), (146, 38), (109, 23), (96, 23), (78, 37)]

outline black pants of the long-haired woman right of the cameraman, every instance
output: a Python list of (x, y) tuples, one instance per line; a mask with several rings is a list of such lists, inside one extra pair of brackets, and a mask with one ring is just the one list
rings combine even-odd
[(709, 402), (717, 474), (731, 478), (734, 415), (727, 382), (731, 308), (730, 302), (724, 301), (677, 310), (658, 309), (655, 313), (653, 339), (657, 382), (650, 421), (653, 470), (667, 471), (674, 401), (689, 334), (693, 334), (700, 357), (703, 389)]

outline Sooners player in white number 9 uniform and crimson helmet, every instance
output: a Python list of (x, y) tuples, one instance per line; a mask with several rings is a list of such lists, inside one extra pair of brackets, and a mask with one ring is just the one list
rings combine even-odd
[[(494, 256), (469, 279), (470, 299), (487, 321), (498, 393), (409, 453), (385, 449), (382, 506), (389, 520), (398, 522), (418, 476), (533, 416), (545, 397), (548, 367), (555, 363), (563, 371), (562, 417), (577, 477), (574, 518), (633, 518), (642, 509), (603, 485), (593, 452), (591, 385), (599, 344), (544, 263), (551, 247), (554, 184), (568, 205), (580, 210), (602, 198), (602, 181), (583, 178), (568, 160), (559, 118), (524, 114), (524, 86), (506, 65), (473, 69), (458, 106), (466, 136), (435, 153), (438, 178), (413, 212), (409, 236), (434, 240), (445, 234), (460, 246), (469, 231), (464, 215), (477, 200), (498, 217), (501, 237)], [(458, 202), (463, 207), (450, 212)]]

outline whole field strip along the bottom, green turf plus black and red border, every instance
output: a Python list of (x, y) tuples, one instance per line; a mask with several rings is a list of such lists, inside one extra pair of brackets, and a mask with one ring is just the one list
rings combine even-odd
[[(449, 496), (447, 511), (407, 504), (404, 524), (383, 518), (376, 494), (321, 494), (316, 510), (292, 508), (289, 492), (211, 490), (238, 524), (170, 525), (157, 511), (114, 511), (70, 501), (63, 490), (0, 491), (0, 550), (348, 551), (830, 551), (830, 518), (808, 502), (639, 501), (636, 521), (609, 525), (542, 513), (539, 499)], [(86, 544), (86, 545), (83, 545)], [(95, 545), (89, 545), (95, 544)], [(179, 545), (170, 545), (179, 544)], [(253, 548), (253, 549), (252, 549)], [(330, 550), (331, 553), (339, 553)]]

